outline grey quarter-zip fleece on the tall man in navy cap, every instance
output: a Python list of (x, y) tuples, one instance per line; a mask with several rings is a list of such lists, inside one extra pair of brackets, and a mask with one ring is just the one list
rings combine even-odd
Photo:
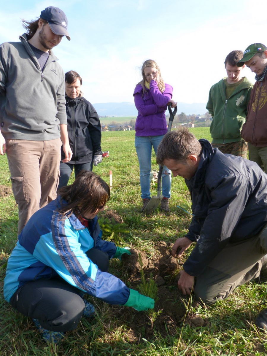
[(0, 117), (5, 140), (47, 141), (67, 124), (65, 75), (49, 51), (43, 70), (24, 33), (0, 46)]

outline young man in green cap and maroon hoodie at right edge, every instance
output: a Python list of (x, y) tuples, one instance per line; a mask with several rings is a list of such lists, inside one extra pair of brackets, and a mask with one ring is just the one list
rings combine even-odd
[(267, 47), (253, 43), (246, 48), (237, 67), (246, 64), (255, 73), (248, 114), (241, 135), (248, 143), (248, 157), (267, 173)]

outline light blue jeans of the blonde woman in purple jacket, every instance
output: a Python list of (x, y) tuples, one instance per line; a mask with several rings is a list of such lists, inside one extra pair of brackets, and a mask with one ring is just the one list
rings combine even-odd
[[(161, 136), (135, 136), (135, 149), (139, 161), (140, 168), (140, 185), (141, 198), (150, 198), (150, 172), (151, 172), (151, 153), (152, 146), (154, 152), (157, 153), (157, 148), (164, 135)], [(162, 195), (165, 198), (171, 196), (171, 171), (163, 166), (161, 187)]]

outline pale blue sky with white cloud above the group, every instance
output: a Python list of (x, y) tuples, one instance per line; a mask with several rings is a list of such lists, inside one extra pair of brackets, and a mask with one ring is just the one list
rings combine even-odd
[[(229, 52), (267, 45), (266, 0), (9, 0), (0, 8), (0, 43), (18, 41), (21, 20), (51, 5), (66, 13), (71, 37), (53, 51), (64, 72), (81, 75), (91, 103), (133, 102), (145, 59), (158, 63), (174, 100), (206, 103)], [(249, 69), (244, 75), (254, 82)]]

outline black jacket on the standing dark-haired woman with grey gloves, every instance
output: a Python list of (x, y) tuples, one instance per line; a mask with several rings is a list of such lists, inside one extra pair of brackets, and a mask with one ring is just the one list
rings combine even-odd
[[(88, 163), (94, 155), (101, 155), (101, 125), (94, 106), (83, 96), (66, 96), (69, 145), (73, 155), (71, 164)], [(61, 157), (65, 154), (61, 149)]]

